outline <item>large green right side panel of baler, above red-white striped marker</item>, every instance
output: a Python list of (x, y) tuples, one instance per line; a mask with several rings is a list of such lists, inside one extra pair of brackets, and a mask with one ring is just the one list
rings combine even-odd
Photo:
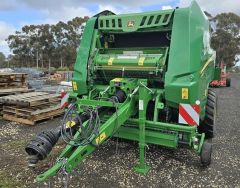
[[(165, 75), (165, 97), (169, 105), (177, 107), (179, 103), (195, 104), (200, 100), (204, 109), (205, 90), (211, 80), (202, 77), (200, 71), (213, 54), (208, 46), (208, 34), (209, 22), (195, 1), (188, 8), (175, 10)], [(211, 75), (211, 71), (206, 75)], [(187, 99), (182, 98), (182, 88), (188, 88)]]

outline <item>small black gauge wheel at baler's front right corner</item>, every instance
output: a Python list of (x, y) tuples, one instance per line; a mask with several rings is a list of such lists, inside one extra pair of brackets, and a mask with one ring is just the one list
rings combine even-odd
[(200, 161), (204, 167), (207, 167), (211, 164), (211, 156), (212, 156), (212, 144), (205, 140), (203, 142), (200, 154)]

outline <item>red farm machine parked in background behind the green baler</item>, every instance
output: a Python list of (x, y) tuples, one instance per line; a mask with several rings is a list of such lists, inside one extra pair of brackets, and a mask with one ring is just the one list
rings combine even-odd
[(227, 73), (227, 66), (222, 61), (220, 67), (215, 69), (215, 79), (210, 83), (211, 87), (230, 87), (231, 78)]

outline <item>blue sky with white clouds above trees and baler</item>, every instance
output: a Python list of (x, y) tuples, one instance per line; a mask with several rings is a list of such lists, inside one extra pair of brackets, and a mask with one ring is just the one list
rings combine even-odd
[[(115, 13), (185, 7), (190, 0), (0, 0), (0, 52), (10, 53), (5, 39), (25, 24), (56, 23), (76, 16), (92, 16), (102, 10)], [(240, 15), (240, 0), (197, 0), (212, 15)]]

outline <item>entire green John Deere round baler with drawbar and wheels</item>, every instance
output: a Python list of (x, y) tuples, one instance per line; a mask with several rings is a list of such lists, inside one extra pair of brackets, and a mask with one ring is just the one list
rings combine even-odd
[(111, 137), (139, 143), (136, 172), (146, 174), (147, 144), (187, 146), (211, 162), (217, 98), (209, 89), (215, 51), (198, 4), (146, 13), (104, 11), (86, 23), (62, 124), (27, 146), (30, 166), (67, 144), (42, 182), (69, 173)]

